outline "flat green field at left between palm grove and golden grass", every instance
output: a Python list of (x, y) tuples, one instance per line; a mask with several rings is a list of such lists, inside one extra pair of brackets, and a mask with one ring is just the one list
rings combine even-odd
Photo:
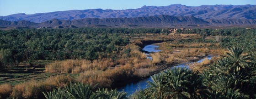
[[(29, 82), (31, 80), (40, 81), (43, 79), (47, 79), (51, 76), (56, 75), (69, 75), (69, 77), (75, 79), (79, 74), (65, 74), (65, 73), (48, 73), (44, 72), (45, 70), (45, 64), (52, 63), (53, 61), (43, 61), (38, 60), (33, 63), (35, 63), (36, 68), (34, 66), (28, 66), (28, 70), (26, 70), (28, 64), (20, 64), (19, 66), (13, 66), (11, 70), (9, 71), (1, 71), (0, 72), (0, 84), (11, 84), (12, 86), (23, 83), (23, 82)], [(39, 65), (40, 64), (40, 65)]]

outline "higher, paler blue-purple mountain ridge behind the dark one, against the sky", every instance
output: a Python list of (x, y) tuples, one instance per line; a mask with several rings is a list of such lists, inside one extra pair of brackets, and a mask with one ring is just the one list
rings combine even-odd
[(67, 10), (48, 13), (37, 13), (26, 15), (24, 13), (0, 16), (0, 20), (20, 21), (28, 20), (35, 23), (41, 23), (47, 20), (80, 20), (85, 18), (136, 18), (148, 17), (156, 15), (170, 16), (194, 16), (199, 19), (256, 19), (256, 5), (201, 5), (201, 6), (186, 6), (181, 4), (168, 6), (143, 6), (138, 9), (127, 10)]

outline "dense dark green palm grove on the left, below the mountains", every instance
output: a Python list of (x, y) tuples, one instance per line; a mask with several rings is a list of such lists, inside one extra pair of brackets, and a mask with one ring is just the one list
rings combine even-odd
[(117, 34), (91, 33), (86, 30), (8, 30), (0, 31), (2, 65), (33, 60), (97, 59), (127, 45)]

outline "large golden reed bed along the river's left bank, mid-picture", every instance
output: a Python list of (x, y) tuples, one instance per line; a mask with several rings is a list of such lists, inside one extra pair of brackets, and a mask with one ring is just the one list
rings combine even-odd
[[(146, 77), (157, 70), (154, 64), (160, 61), (151, 61), (140, 51), (138, 45), (127, 45), (120, 52), (120, 58), (85, 59), (56, 61), (46, 65), (46, 72), (80, 73), (78, 81), (84, 84), (97, 85), (98, 87), (111, 87), (119, 81), (134, 77)], [(156, 58), (160, 59), (160, 53)]]

